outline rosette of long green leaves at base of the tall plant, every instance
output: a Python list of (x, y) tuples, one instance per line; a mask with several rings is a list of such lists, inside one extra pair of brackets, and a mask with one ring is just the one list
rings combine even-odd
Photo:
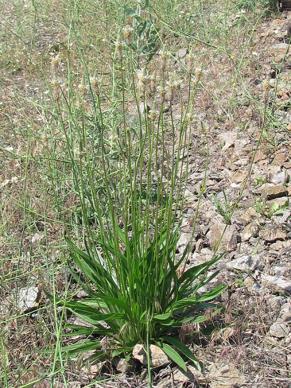
[[(118, 258), (113, 236), (102, 241), (93, 235), (100, 247), (97, 256), (88, 246), (87, 252), (83, 252), (66, 239), (71, 257), (86, 280), (81, 280), (70, 265), (71, 273), (88, 298), (66, 301), (64, 305), (90, 326), (67, 325), (72, 330), (69, 335), (81, 335), (83, 340), (63, 350), (71, 356), (95, 349), (93, 358), (106, 354), (129, 358), (135, 344), (154, 343), (184, 370), (186, 365), (180, 354), (192, 360), (199, 369), (198, 360), (178, 340), (178, 334), (183, 323), (203, 323), (221, 310), (210, 301), (225, 289), (223, 285), (196, 295), (217, 275), (207, 276), (207, 271), (219, 257), (189, 268), (178, 276), (186, 252), (175, 262), (177, 229), (171, 236), (167, 236), (166, 230), (159, 231), (145, 248), (143, 257), (136, 255), (136, 237), (127, 240), (118, 226), (116, 232), (118, 241), (126, 247), (123, 253), (118, 252)], [(62, 300), (59, 303), (63, 304)], [(211, 311), (210, 316), (205, 314), (206, 310)], [(104, 337), (105, 347), (102, 344)]]

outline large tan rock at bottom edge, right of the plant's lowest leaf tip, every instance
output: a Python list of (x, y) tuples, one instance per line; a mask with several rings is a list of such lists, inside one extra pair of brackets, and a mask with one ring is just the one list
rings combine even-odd
[(240, 387), (240, 384), (246, 382), (245, 377), (237, 368), (232, 364), (225, 364), (214, 361), (211, 367), (208, 378), (210, 383), (209, 388), (233, 388)]

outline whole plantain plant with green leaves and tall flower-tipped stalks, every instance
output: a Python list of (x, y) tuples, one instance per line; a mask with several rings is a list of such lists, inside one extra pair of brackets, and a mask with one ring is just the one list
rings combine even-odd
[[(88, 68), (79, 47), (84, 75), (78, 90), (72, 87), (69, 60), (68, 82), (61, 84), (55, 72), (50, 83), (48, 120), (64, 134), (64, 168), (71, 176), (68, 187), (78, 198), (82, 227), (81, 234), (73, 233), (64, 219), (68, 265), (87, 293), (82, 300), (68, 295), (56, 299), (84, 322), (67, 324), (67, 335), (82, 340), (63, 350), (75, 355), (94, 349), (93, 357), (128, 359), (139, 343), (150, 372), (149, 349), (156, 344), (184, 370), (182, 356), (199, 368), (178, 335), (186, 323), (199, 327), (220, 310), (211, 300), (224, 286), (198, 293), (217, 275), (208, 276), (208, 269), (218, 257), (186, 267), (190, 244), (179, 256), (176, 247), (189, 172), (192, 107), (202, 71), (194, 70), (190, 51), (184, 78), (170, 72), (166, 48), (152, 66), (137, 69), (143, 58), (134, 58), (131, 33), (127, 27), (124, 38), (117, 39), (110, 75)], [(58, 203), (58, 193), (55, 197)]]

